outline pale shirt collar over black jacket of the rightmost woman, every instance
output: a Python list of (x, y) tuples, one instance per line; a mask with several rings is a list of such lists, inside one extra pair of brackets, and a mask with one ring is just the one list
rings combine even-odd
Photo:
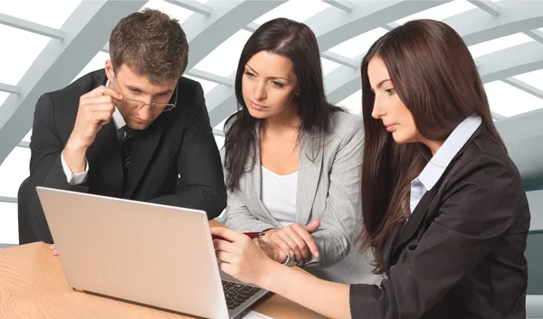
[(481, 117), (466, 117), (454, 128), (443, 145), (432, 156), (430, 162), (424, 166), (423, 172), (411, 182), (411, 199), (409, 202), (411, 213), (416, 205), (421, 202), (424, 193), (430, 191), (439, 181), (445, 169), (451, 164), (452, 158), (458, 154), (463, 145), (472, 137), (473, 133), (481, 126)]

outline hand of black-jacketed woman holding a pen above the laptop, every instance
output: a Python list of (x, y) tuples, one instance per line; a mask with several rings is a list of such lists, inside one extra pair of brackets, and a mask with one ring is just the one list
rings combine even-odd
[(269, 269), (275, 262), (268, 258), (247, 235), (224, 227), (212, 227), (211, 233), (222, 239), (214, 239), (219, 268), (226, 274), (245, 283), (263, 286)]

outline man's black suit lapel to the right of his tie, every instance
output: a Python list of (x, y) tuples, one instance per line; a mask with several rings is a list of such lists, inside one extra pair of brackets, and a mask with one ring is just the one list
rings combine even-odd
[(145, 174), (151, 158), (155, 154), (158, 142), (162, 136), (163, 126), (160, 125), (159, 118), (144, 130), (138, 131), (132, 142), (130, 150), (130, 165), (128, 171), (127, 184), (125, 185), (124, 198), (132, 198), (139, 181)]

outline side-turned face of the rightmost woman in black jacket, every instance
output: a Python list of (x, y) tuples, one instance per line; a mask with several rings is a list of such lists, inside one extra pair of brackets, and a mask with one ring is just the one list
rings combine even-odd
[(371, 116), (383, 121), (383, 125), (396, 143), (405, 144), (420, 141), (420, 133), (413, 114), (398, 97), (386, 70), (385, 62), (379, 57), (369, 61), (367, 77), (376, 99)]

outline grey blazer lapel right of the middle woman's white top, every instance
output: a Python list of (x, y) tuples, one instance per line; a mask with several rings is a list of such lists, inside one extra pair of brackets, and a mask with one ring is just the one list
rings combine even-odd
[(296, 188), (296, 219), (304, 226), (310, 221), (310, 215), (315, 201), (315, 193), (319, 185), (320, 171), (322, 169), (323, 147), (315, 157), (311, 149), (310, 138), (303, 138), (300, 148), (300, 159), (298, 164), (298, 186)]

